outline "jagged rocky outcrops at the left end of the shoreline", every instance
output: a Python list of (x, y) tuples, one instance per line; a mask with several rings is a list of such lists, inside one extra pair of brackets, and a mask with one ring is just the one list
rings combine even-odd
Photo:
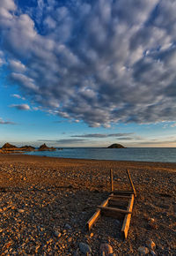
[(11, 145), (10, 143), (5, 143), (3, 147), (0, 148), (0, 154), (8, 154), (8, 153), (21, 153), (21, 152), (29, 152), (29, 151), (55, 151), (55, 147), (48, 147), (45, 143), (39, 147), (39, 149), (36, 149), (32, 146), (23, 146), (23, 147), (17, 147), (14, 145)]

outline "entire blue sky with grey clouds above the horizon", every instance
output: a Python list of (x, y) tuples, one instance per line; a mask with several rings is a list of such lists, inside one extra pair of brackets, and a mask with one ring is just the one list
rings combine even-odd
[(0, 0), (0, 147), (176, 147), (176, 1)]

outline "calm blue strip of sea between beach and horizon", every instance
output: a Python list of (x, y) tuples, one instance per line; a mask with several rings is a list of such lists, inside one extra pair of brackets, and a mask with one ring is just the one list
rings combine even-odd
[(176, 147), (64, 147), (62, 150), (26, 154), (96, 160), (176, 162)]

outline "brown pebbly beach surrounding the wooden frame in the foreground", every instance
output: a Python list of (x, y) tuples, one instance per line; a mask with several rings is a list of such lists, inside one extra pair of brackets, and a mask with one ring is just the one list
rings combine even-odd
[[(121, 221), (102, 217), (85, 223), (114, 188), (129, 189), (129, 169), (137, 197), (128, 230)], [(81, 242), (99, 255), (102, 243), (114, 255), (139, 255), (151, 239), (157, 255), (176, 252), (176, 163), (93, 161), (0, 154), (1, 255), (84, 255)]]

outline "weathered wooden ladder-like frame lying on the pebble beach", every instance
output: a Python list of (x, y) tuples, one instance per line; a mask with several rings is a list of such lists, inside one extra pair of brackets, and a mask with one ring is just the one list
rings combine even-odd
[(92, 215), (92, 218), (86, 222), (86, 229), (88, 231), (92, 229), (92, 226), (98, 221), (100, 215), (106, 215), (113, 218), (118, 218), (120, 215), (123, 215), (124, 219), (121, 228), (121, 235), (123, 238), (127, 238), (134, 199), (136, 197), (136, 189), (128, 169), (127, 173), (132, 191), (114, 191), (113, 170), (110, 170), (111, 193), (109, 197), (97, 207), (97, 211)]

